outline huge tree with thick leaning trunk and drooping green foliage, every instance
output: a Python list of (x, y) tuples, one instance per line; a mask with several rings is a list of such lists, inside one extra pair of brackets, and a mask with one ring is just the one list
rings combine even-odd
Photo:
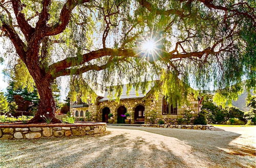
[(2, 0), (0, 10), (11, 70), (40, 96), (31, 122), (47, 112), (59, 122), (51, 84), (66, 75), (71, 98), (83, 101), (93, 97), (87, 82), (98, 80), (145, 90), (141, 81), (160, 76), (155, 90), (169, 101), (185, 98), (191, 85), (212, 85), (219, 98), (255, 87), (254, 1)]

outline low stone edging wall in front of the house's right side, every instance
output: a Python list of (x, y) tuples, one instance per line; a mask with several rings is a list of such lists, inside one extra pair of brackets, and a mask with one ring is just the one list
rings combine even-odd
[(141, 127), (157, 127), (157, 128), (178, 128), (178, 129), (200, 129), (214, 130), (213, 125), (172, 125), (172, 124), (142, 124)]

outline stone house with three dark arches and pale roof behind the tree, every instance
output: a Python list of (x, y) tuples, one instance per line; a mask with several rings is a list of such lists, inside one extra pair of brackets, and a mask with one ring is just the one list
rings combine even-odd
[[(184, 117), (184, 110), (191, 110), (193, 117), (196, 117), (200, 111), (202, 99), (194, 98), (193, 95), (188, 96), (190, 105), (178, 106), (177, 104), (169, 104), (162, 94), (155, 96), (151, 94), (151, 88), (136, 92), (135, 88), (130, 90), (129, 95), (126, 94), (127, 86), (123, 86), (120, 101), (111, 100), (109, 92), (106, 90), (103, 95), (99, 95), (95, 103), (84, 104), (81, 100), (71, 102), (71, 113), (77, 118), (84, 118), (86, 112), (90, 111), (93, 115), (92, 120), (95, 122), (108, 122), (108, 114), (114, 115), (114, 123), (124, 123), (123, 115), (129, 113), (131, 124), (148, 123), (149, 113), (155, 110), (158, 119), (166, 122), (176, 122), (176, 119)], [(96, 92), (95, 92), (96, 93)]]

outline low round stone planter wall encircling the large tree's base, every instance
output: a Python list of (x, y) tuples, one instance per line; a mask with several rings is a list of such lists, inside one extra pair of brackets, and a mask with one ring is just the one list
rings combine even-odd
[(84, 136), (103, 133), (106, 123), (75, 124), (0, 124), (0, 139), (35, 139), (41, 137)]

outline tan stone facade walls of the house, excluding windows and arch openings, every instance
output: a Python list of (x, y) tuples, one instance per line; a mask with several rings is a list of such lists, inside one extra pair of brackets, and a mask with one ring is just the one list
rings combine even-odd
[[(157, 118), (170, 120), (173, 119), (175, 121), (178, 118), (184, 117), (184, 110), (192, 111), (193, 117), (198, 115), (198, 100), (193, 97), (193, 95), (188, 96), (189, 105), (181, 105), (178, 106), (177, 115), (162, 115), (162, 99), (163, 95), (159, 94), (156, 99), (153, 95), (148, 95), (146, 98), (139, 99), (123, 99), (119, 102), (116, 101), (104, 101), (104, 102), (96, 102), (93, 105), (89, 105), (89, 107), (76, 107), (72, 108), (72, 113), (75, 116), (75, 111), (78, 110), (79, 115), (80, 111), (89, 110), (93, 113), (93, 121), (102, 122), (102, 109), (104, 107), (110, 108), (110, 113), (114, 115), (114, 123), (117, 123), (117, 109), (120, 106), (124, 106), (127, 110), (127, 113), (131, 115), (131, 124), (134, 124), (134, 113), (135, 108), (138, 105), (143, 105), (145, 107), (145, 123), (150, 122), (147, 118), (149, 117), (149, 113), (151, 110), (155, 110), (157, 114)], [(79, 116), (80, 118), (80, 116)], [(175, 121), (176, 122), (176, 121)]]

